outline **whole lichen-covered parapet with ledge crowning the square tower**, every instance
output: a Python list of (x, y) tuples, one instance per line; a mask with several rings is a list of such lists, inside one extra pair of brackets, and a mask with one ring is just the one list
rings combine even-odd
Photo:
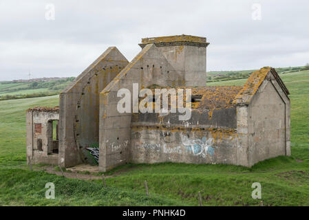
[(145, 45), (153, 43), (157, 47), (164, 46), (178, 46), (178, 45), (190, 45), (198, 47), (207, 47), (209, 43), (206, 42), (205, 37), (191, 36), (191, 35), (174, 35), (174, 36), (159, 36), (142, 39), (140, 47), (144, 48)]

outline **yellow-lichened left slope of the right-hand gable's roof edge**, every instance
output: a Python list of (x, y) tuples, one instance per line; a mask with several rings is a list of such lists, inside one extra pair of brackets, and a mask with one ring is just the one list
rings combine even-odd
[(263, 67), (253, 72), (246, 81), (243, 89), (235, 97), (234, 104), (249, 104), (259, 86), (263, 83), (271, 67)]

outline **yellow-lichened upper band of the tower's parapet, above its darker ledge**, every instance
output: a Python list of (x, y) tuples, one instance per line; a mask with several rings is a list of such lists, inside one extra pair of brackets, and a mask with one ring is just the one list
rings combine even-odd
[(159, 36), (142, 39), (142, 43), (171, 43), (171, 42), (193, 42), (193, 43), (206, 43), (206, 38), (191, 35), (175, 35), (175, 36)]

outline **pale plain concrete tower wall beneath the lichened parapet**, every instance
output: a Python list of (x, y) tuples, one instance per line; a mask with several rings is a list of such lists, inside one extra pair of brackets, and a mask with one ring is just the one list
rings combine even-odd
[(206, 86), (206, 47), (177, 45), (158, 49), (174, 69), (184, 76), (185, 86)]

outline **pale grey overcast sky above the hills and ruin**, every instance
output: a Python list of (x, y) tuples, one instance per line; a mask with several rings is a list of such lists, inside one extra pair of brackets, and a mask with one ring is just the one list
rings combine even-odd
[(0, 0), (0, 80), (78, 76), (109, 46), (131, 61), (176, 34), (207, 38), (207, 71), (305, 65), (308, 22), (308, 0)]

